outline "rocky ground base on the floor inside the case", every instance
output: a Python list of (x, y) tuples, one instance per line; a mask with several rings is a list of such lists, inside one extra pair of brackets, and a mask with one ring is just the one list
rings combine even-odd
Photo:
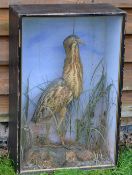
[(56, 169), (67, 167), (112, 166), (108, 155), (91, 152), (82, 145), (43, 145), (34, 146), (26, 154), (23, 170)]

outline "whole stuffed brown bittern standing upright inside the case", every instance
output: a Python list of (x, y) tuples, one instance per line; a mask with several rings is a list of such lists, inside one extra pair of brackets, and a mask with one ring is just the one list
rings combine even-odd
[[(37, 122), (40, 117), (45, 118), (45, 111), (50, 111), (50, 117), (57, 115), (57, 129), (59, 130), (65, 119), (67, 107), (79, 98), (83, 86), (83, 68), (79, 53), (81, 40), (76, 35), (68, 36), (64, 42), (66, 58), (62, 78), (53, 81), (42, 93), (38, 100), (32, 121)], [(64, 138), (61, 138), (64, 144)]]

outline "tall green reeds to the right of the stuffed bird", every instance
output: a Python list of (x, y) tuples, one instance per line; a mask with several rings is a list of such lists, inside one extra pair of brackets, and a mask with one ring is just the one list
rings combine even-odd
[[(98, 63), (96, 66), (93, 76), (91, 78), (91, 82), (94, 80), (94, 76), (96, 75), (96, 71), (101, 65), (102, 60)], [(103, 68), (103, 66), (102, 66)], [(91, 138), (94, 138), (94, 143), (99, 141), (105, 142), (105, 130), (106, 130), (106, 120), (107, 120), (107, 114), (105, 114), (105, 117), (103, 115), (100, 117), (101, 122), (100, 125), (95, 127), (94, 121), (96, 120), (94, 117), (95, 108), (97, 104), (104, 99), (105, 102), (107, 102), (106, 108), (109, 108), (109, 93), (112, 88), (112, 84), (106, 85), (106, 73), (104, 71), (104, 68), (102, 70), (102, 74), (100, 79), (98, 80), (97, 84), (94, 88), (92, 88), (91, 92), (89, 93), (89, 101), (86, 105), (83, 115), (81, 119), (76, 120), (76, 140), (77, 141), (85, 141), (86, 145), (91, 145)], [(94, 133), (94, 137), (91, 137), (91, 134)], [(98, 140), (97, 140), (98, 139)], [(98, 144), (98, 147), (101, 146), (101, 144)], [(92, 146), (93, 147), (93, 146)]]

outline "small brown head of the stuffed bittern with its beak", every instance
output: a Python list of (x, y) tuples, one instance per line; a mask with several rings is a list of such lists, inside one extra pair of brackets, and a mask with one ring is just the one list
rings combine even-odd
[(63, 45), (66, 51), (70, 50), (73, 46), (78, 47), (79, 44), (83, 43), (81, 39), (76, 35), (69, 35), (65, 38)]

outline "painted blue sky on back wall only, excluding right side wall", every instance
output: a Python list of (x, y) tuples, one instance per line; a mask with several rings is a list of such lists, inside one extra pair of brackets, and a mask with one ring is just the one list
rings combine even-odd
[[(94, 20), (98, 28), (95, 28), (92, 18), (75, 20), (75, 34), (85, 42), (85, 45), (80, 46), (84, 72), (89, 71), (88, 65), (91, 64), (91, 59), (97, 57), (99, 60), (104, 53), (104, 18), (99, 21), (96, 18)], [(41, 81), (53, 80), (61, 76), (65, 59), (63, 41), (72, 34), (72, 31), (73, 18), (23, 19), (24, 82), (29, 74), (31, 87)]]

